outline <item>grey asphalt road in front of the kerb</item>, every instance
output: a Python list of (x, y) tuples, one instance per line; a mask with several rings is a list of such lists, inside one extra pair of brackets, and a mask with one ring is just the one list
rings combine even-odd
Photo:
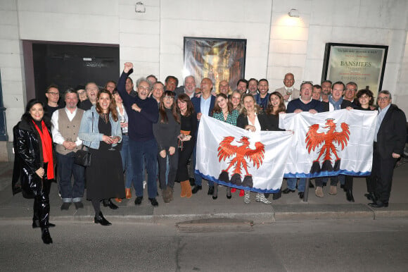
[(44, 245), (30, 221), (0, 221), (1, 271), (407, 271), (408, 218), (300, 221), (253, 231), (57, 221)]

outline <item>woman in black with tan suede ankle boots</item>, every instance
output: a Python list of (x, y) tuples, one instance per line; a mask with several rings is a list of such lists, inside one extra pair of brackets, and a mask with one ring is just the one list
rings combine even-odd
[[(177, 166), (176, 180), (180, 182), (180, 197), (190, 198), (192, 195), (189, 168), (187, 164), (196, 145), (197, 113), (187, 94), (180, 94), (177, 97), (177, 112), (180, 113), (181, 128), (179, 131), (179, 163)], [(191, 162), (193, 159), (191, 159)]]

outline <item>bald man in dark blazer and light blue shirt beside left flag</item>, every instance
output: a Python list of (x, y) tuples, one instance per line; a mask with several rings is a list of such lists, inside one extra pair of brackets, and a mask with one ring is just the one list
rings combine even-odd
[[(200, 118), (201, 116), (203, 116), (203, 114), (205, 116), (211, 116), (211, 111), (214, 108), (214, 104), (215, 104), (215, 96), (211, 94), (212, 81), (210, 80), (210, 78), (203, 78), (203, 80), (201, 80), (200, 87), (201, 87), (201, 96), (193, 97), (191, 99), (191, 103), (193, 103), (194, 110), (197, 113), (198, 125), (200, 124)], [(193, 158), (194, 158), (194, 169), (195, 169), (196, 168), (196, 148), (194, 148)], [(194, 174), (194, 178), (196, 179), (196, 181), (195, 181), (195, 185), (193, 187), (192, 192), (193, 194), (196, 194), (196, 192), (202, 189), (202, 186), (201, 186), (202, 178), (198, 174)], [(211, 180), (208, 180), (208, 194), (212, 195), (213, 192), (214, 192), (214, 183)]]

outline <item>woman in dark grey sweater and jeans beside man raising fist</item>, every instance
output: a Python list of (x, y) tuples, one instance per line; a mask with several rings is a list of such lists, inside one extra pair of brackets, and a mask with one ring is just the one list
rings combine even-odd
[[(173, 200), (174, 179), (177, 174), (177, 137), (180, 133), (180, 116), (174, 104), (174, 92), (165, 91), (160, 98), (159, 120), (153, 124), (153, 134), (158, 142), (159, 182), (165, 203)], [(168, 184), (166, 185), (167, 158), (169, 159)]]

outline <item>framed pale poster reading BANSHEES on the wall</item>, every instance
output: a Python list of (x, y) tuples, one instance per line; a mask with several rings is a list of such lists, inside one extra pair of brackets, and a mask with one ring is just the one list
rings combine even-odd
[(378, 94), (383, 85), (388, 46), (327, 43), (321, 80), (352, 81)]

